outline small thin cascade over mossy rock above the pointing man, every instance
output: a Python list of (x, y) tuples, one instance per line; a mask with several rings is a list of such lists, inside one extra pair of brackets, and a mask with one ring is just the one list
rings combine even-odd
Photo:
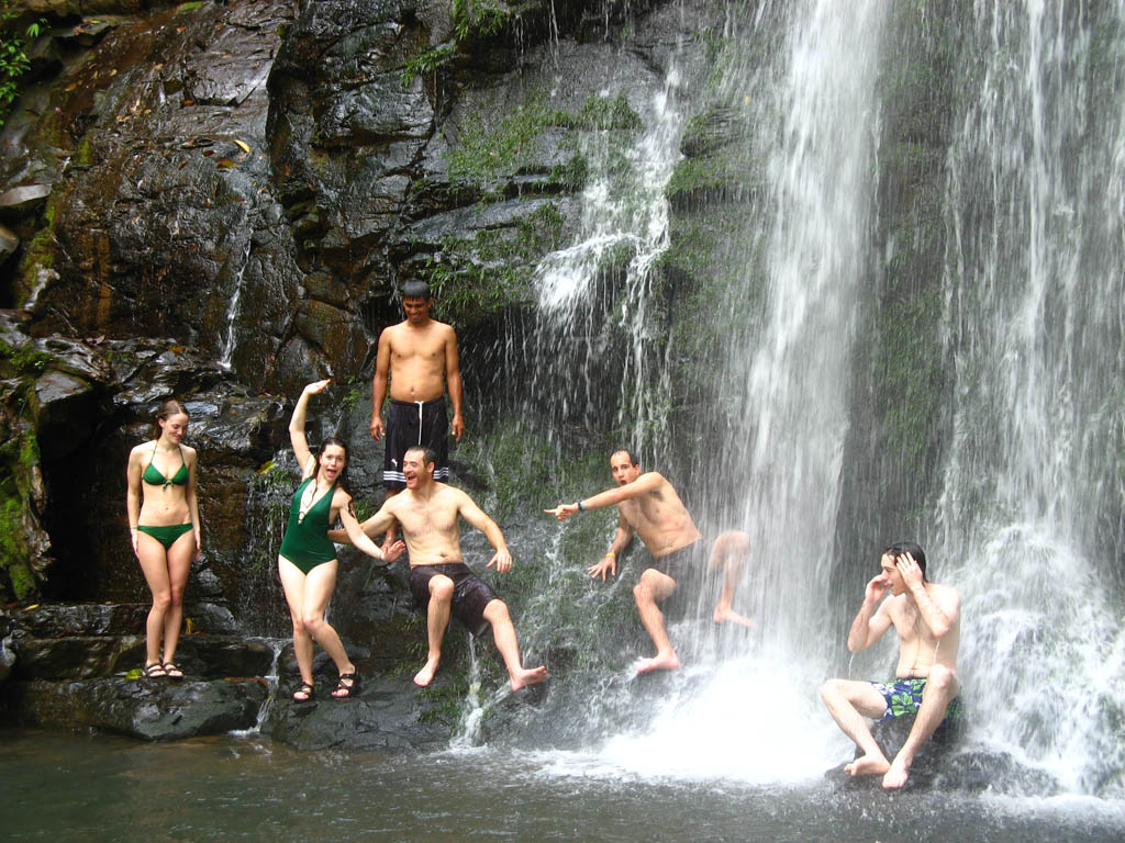
[[(664, 188), (680, 157), (678, 83), (673, 69), (645, 103), (646, 129), (634, 145), (622, 147), (620, 132), (583, 138), (591, 176), (578, 235), (540, 262), (537, 324), (519, 350), (522, 361), (533, 361), (524, 416), (546, 422), (549, 436), (575, 420), (595, 425), (609, 404), (616, 408), (611, 424), (630, 434), (632, 447), (651, 453), (666, 446), (668, 379), (664, 355), (654, 351), (662, 329), (651, 285), (668, 238)], [(623, 353), (610, 363), (610, 346), (616, 354), (622, 344), (614, 341), (622, 337)], [(606, 371), (620, 377), (611, 395), (603, 392)]]

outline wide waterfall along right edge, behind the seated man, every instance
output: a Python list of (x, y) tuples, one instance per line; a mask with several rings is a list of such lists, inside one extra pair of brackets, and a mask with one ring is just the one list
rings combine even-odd
[(1119, 791), (1125, 17), (1040, 0), (966, 26), (980, 83), (948, 156), (954, 437), (933, 552), (964, 600), (973, 737)]

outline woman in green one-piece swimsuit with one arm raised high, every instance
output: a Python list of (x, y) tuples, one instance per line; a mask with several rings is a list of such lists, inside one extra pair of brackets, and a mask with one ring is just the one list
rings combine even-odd
[(348, 658), (336, 631), (324, 619), (328, 599), (336, 587), (336, 547), (328, 541), (328, 527), (339, 517), (352, 544), (376, 559), (394, 562), (405, 546), (395, 543), (384, 553), (359, 526), (348, 491), (348, 446), (334, 436), (321, 444), (320, 455), (308, 450), (305, 438), (305, 415), (308, 398), (331, 381), (309, 383), (297, 399), (289, 422), (289, 441), (297, 464), (304, 469), (289, 508), (281, 549), (278, 551), (278, 573), (285, 599), (292, 617), (292, 649), (300, 669), (300, 687), (292, 695), (295, 703), (313, 698), (313, 641), (315, 640), (336, 664), (340, 681), (332, 696), (336, 699), (359, 694), (359, 672)]

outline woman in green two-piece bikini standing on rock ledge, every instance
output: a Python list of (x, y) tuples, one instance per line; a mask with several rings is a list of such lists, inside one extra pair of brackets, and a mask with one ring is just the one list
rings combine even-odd
[(172, 659), (183, 620), (183, 588), (200, 547), (196, 451), (183, 444), (188, 420), (182, 404), (164, 401), (156, 414), (156, 438), (129, 452), (129, 535), (152, 591), (144, 672), (154, 678), (183, 678)]

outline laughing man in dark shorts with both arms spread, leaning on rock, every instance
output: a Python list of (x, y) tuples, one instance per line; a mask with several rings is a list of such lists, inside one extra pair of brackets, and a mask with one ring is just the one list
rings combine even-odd
[[(414, 677), (420, 687), (430, 685), (441, 661), (441, 642), (449, 626), (450, 614), (465, 624), (475, 635), (492, 625), (496, 649), (504, 659), (504, 667), (512, 680), (512, 690), (536, 685), (547, 679), (547, 668), (539, 665), (525, 670), (520, 661), (520, 647), (507, 605), (482, 581), (461, 555), (460, 524), (465, 518), (479, 529), (496, 554), (485, 565), (506, 573), (512, 568), (504, 534), (472, 498), (460, 489), (433, 479), (436, 457), (428, 447), (414, 446), (403, 457), (406, 490), (388, 498), (378, 513), (360, 526), (369, 536), (387, 529), (396, 519), (403, 527), (403, 538), (411, 559), (411, 592), (426, 611), (429, 654), (425, 665)], [(333, 542), (348, 541), (343, 531), (332, 531)]]

